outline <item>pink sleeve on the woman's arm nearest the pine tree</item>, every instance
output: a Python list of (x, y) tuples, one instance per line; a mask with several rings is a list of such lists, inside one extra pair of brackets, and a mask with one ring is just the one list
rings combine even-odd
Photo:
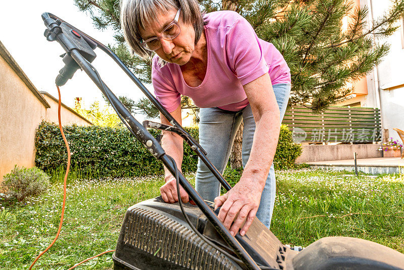
[(269, 68), (256, 32), (246, 19), (237, 17), (227, 35), (226, 51), (231, 68), (245, 85), (268, 73)]

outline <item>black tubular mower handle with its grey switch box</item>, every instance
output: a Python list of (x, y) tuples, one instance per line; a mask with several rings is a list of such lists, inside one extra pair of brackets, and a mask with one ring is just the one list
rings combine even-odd
[[(230, 232), (224, 227), (223, 223), (220, 222), (216, 214), (212, 209), (206, 204), (203, 198), (193, 189), (182, 173), (178, 172), (178, 168), (174, 167), (171, 162), (171, 157), (169, 157), (160, 146), (158, 141), (151, 136), (145, 127), (143, 127), (128, 111), (128, 109), (120, 102), (120, 100), (111, 92), (108, 86), (99, 77), (98, 72), (92, 67), (91, 62), (95, 59), (96, 55), (93, 50), (98, 47), (110, 55), (115, 62), (125, 71), (125, 73), (131, 77), (131, 79), (136, 83), (141, 91), (149, 98), (149, 100), (159, 109), (159, 111), (171, 122), (175, 129), (187, 138), (187, 142), (194, 146), (194, 151), (198, 156), (203, 159), (203, 161), (212, 170), (219, 181), (224, 185), (224, 187), (229, 190), (230, 185), (225, 181), (223, 176), (217, 171), (213, 164), (207, 159), (206, 152), (200, 145), (193, 140), (193, 138), (186, 132), (182, 126), (171, 116), (171, 114), (160, 104), (157, 99), (148, 92), (146, 87), (136, 78), (136, 76), (123, 64), (123, 62), (104, 44), (98, 42), (92, 37), (81, 32), (77, 28), (58, 18), (51, 13), (42, 14), (43, 22), (46, 26), (44, 35), (49, 41), (58, 41), (66, 54), (63, 57), (63, 62), (66, 64), (65, 67), (60, 71), (57, 78), (57, 84), (63, 85), (66, 81), (71, 78), (78, 67), (82, 68), (87, 75), (93, 80), (93, 82), (98, 86), (98, 88), (107, 97), (111, 105), (116, 110), (118, 116), (121, 118), (123, 123), (128, 127), (132, 134), (143, 144), (143, 146), (149, 150), (149, 152), (156, 158), (163, 162), (163, 164), (169, 169), (169, 171), (174, 175), (179, 174), (179, 182), (181, 186), (185, 189), (192, 200), (198, 205), (201, 211), (207, 216), (207, 218), (214, 224), (218, 233), (225, 239), (225, 241), (234, 249), (237, 256), (245, 263), (249, 269), (259, 270), (260, 267), (251, 258), (251, 256), (245, 251), (245, 249), (240, 245), (240, 243), (232, 237)], [(88, 42), (87, 42), (88, 41)], [(58, 84), (58, 85), (59, 85)]]

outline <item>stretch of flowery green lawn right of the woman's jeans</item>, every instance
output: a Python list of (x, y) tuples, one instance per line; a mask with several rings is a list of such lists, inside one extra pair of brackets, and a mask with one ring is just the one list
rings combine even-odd
[(278, 172), (272, 232), (290, 245), (349, 236), (404, 253), (404, 175), (342, 176), (346, 173)]

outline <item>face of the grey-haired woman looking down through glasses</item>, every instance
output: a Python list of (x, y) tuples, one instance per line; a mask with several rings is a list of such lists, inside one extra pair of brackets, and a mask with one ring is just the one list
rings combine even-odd
[[(176, 13), (176, 9), (165, 13), (157, 12), (156, 20), (147, 23), (145, 29), (140, 31), (142, 39), (147, 40), (151, 37), (161, 37), (161, 32), (174, 20)], [(192, 25), (183, 23), (181, 13), (178, 19), (178, 25), (181, 29), (180, 34), (172, 40), (161, 38), (161, 48), (155, 51), (164, 61), (177, 65), (186, 64), (195, 50), (195, 31)]]

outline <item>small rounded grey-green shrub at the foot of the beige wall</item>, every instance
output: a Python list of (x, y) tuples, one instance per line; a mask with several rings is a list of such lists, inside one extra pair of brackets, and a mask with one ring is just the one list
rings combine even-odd
[(49, 176), (41, 169), (19, 168), (4, 175), (3, 188), (6, 190), (5, 199), (24, 200), (28, 196), (37, 196), (47, 190)]

